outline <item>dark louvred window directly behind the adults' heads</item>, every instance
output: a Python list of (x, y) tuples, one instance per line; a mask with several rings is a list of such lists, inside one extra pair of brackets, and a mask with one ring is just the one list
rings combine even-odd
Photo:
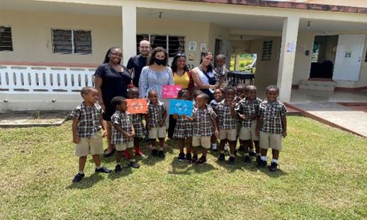
[(185, 52), (185, 37), (176, 35), (148, 35), (142, 34), (136, 36), (137, 54), (139, 54), (139, 42), (141, 40), (149, 40), (154, 47), (163, 47), (169, 54), (174, 57), (178, 52)]

